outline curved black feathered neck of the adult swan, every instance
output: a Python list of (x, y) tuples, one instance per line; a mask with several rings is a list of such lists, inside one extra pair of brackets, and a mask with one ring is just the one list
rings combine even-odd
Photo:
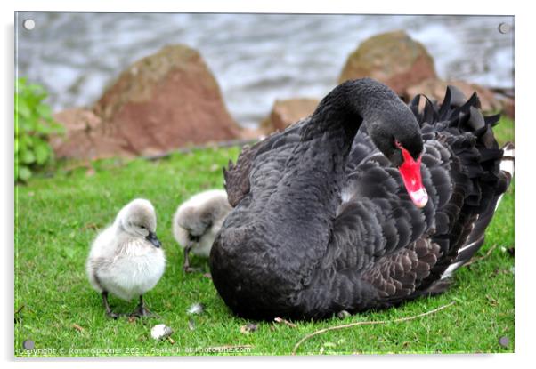
[[(363, 122), (369, 127), (390, 119), (394, 99), (398, 97), (388, 87), (365, 79), (340, 84), (321, 101), (304, 127), (303, 141), (287, 163), (285, 176), (265, 204), (277, 214), (266, 220), (266, 230), (284, 235), (277, 241), (287, 244), (282, 250), (309, 248), (313, 258), (323, 253), (318, 245), (329, 243), (353, 139)], [(317, 246), (310, 247), (313, 244)]]

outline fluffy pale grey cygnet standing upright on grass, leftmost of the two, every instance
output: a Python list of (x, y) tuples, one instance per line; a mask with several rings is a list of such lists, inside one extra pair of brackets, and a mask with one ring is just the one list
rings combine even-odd
[(87, 277), (93, 288), (102, 293), (109, 317), (118, 317), (108, 303), (108, 293), (140, 302), (132, 313), (150, 316), (143, 303), (143, 293), (150, 291), (166, 268), (166, 257), (155, 231), (157, 216), (150, 201), (135, 199), (118, 213), (114, 223), (93, 241), (86, 263)]

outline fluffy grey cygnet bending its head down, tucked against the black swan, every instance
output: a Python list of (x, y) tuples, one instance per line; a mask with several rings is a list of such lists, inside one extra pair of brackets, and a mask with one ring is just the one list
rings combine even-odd
[(215, 236), (232, 208), (222, 189), (201, 192), (180, 205), (173, 218), (173, 235), (184, 249), (183, 269), (190, 272), (188, 254), (208, 257)]

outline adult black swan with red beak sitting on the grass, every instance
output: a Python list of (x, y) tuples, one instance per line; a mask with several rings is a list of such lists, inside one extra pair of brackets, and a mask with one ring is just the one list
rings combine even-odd
[(230, 163), (234, 209), (210, 269), (235, 314), (324, 318), (448, 287), (483, 244), (511, 174), (491, 131), (499, 116), (484, 117), (476, 94), (449, 87), (422, 113), (419, 100), (348, 81)]

